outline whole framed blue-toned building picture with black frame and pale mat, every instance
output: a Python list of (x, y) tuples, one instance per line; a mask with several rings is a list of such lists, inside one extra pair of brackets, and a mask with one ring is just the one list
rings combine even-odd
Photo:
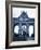
[(6, 1), (5, 48), (40, 46), (40, 3)]

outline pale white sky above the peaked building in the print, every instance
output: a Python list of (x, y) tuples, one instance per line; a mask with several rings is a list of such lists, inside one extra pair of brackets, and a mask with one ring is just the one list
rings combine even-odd
[(12, 8), (13, 17), (18, 17), (23, 11), (25, 11), (30, 18), (36, 17), (37, 9), (29, 9), (29, 8)]

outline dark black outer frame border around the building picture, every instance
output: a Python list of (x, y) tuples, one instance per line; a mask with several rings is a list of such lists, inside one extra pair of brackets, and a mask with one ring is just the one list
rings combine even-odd
[(9, 47), (9, 2), (5, 2), (5, 15), (6, 15), (6, 34), (5, 34), (5, 49), (11, 48), (29, 48), (40, 46), (40, 2), (24, 2), (24, 1), (10, 1), (13, 3), (25, 3), (25, 4), (37, 4), (38, 5), (38, 45), (27, 45), (27, 46), (12, 46)]

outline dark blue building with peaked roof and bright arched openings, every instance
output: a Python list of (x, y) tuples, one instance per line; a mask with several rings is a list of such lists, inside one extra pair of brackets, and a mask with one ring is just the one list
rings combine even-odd
[(12, 17), (13, 41), (35, 40), (35, 18), (25, 11), (18, 17)]

